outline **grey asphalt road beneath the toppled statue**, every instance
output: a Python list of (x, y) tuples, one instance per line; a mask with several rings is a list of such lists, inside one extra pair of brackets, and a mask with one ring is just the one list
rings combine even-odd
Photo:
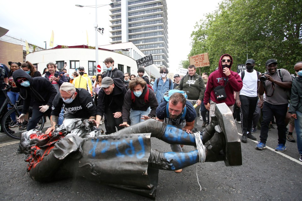
[[(237, 129), (241, 133), (240, 124)], [(259, 131), (255, 137), (259, 139)], [(163, 141), (152, 138), (151, 143), (154, 149), (171, 151)], [(242, 166), (226, 167), (220, 161), (199, 163), (181, 173), (159, 170), (156, 200), (301, 200), (302, 162), (297, 160), (297, 144), (287, 142), (287, 150), (281, 154), (270, 149), (257, 150), (255, 145), (249, 139), (241, 143)], [(269, 131), (266, 146), (277, 146), (277, 128)], [(28, 177), (25, 155), (19, 154), (17, 147), (16, 140), (0, 134), (0, 200), (150, 200), (83, 178), (35, 182)], [(183, 150), (193, 147), (185, 146)]]

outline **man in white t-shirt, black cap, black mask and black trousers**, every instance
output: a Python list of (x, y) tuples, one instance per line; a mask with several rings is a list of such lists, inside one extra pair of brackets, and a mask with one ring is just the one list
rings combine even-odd
[[(242, 79), (243, 87), (239, 92), (236, 92), (236, 104), (240, 108), (240, 117), (241, 117), (241, 128), (242, 128), (242, 138), (241, 142), (247, 142), (247, 138), (256, 140), (252, 135), (252, 123), (253, 123), (253, 114), (257, 106), (258, 101), (258, 85), (259, 79), (258, 75), (260, 74), (254, 70), (255, 61), (253, 59), (248, 59), (245, 62), (246, 70), (239, 73), (239, 76)], [(260, 106), (263, 105), (263, 96), (260, 97)]]

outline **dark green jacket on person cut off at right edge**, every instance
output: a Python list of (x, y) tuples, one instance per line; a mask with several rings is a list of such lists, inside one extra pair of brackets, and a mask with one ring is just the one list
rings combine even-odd
[(299, 76), (293, 80), (292, 94), (290, 95), (290, 105), (288, 112), (296, 114), (296, 111), (302, 113), (302, 77)]

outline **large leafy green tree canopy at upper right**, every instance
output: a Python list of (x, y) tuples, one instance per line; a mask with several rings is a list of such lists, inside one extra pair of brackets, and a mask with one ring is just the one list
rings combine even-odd
[(211, 66), (203, 70), (209, 72), (228, 53), (233, 71), (248, 54), (260, 72), (266, 71), (266, 60), (274, 58), (279, 68), (294, 73), (294, 64), (302, 60), (301, 9), (301, 0), (223, 0), (195, 25), (188, 56), (208, 52)]

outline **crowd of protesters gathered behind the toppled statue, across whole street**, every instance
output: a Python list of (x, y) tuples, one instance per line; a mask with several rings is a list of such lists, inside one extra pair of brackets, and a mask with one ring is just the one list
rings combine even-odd
[[(50, 62), (42, 75), (28, 61), (9, 62), (10, 69), (1, 64), (1, 83), (13, 87), (8, 92), (10, 100), (15, 103), (19, 95), (24, 99), (19, 119), (12, 116), (9, 127), (29, 131), (44, 115), (51, 123), (46, 134), (70, 118), (89, 119), (97, 128), (104, 123), (105, 134), (111, 134), (154, 118), (195, 133), (199, 117), (203, 120), (202, 127), (206, 127), (215, 121), (215, 105), (225, 103), (241, 124), (241, 142), (247, 143), (248, 138), (257, 140), (253, 134), (260, 130), (256, 149), (266, 148), (268, 130), (275, 122), (278, 133), (275, 150), (285, 151), (286, 140), (295, 142), (295, 128), (302, 161), (302, 62), (294, 65), (295, 78), (286, 69), (277, 68), (274, 59), (267, 60), (264, 73), (254, 69), (253, 59), (246, 61), (244, 71), (236, 73), (231, 70), (232, 56), (224, 54), (218, 68), (209, 75), (198, 75), (196, 67), (190, 65), (187, 75), (181, 78), (175, 74), (174, 80), (167, 77), (166, 67), (160, 68), (160, 77), (154, 79), (144, 76), (143, 67), (134, 75), (118, 70), (111, 57), (104, 63), (106, 73), (91, 78), (84, 67), (67, 74), (67, 63), (58, 71), (57, 65)], [(3, 95), (0, 98), (3, 101)], [(33, 108), (30, 121), (29, 106)], [(171, 144), (171, 150), (181, 152), (182, 146)]]

